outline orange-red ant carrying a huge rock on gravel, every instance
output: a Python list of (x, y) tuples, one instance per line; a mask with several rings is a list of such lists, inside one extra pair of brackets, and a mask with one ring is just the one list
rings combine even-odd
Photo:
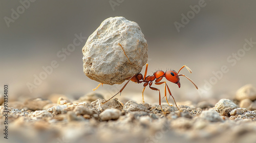
[[(118, 44), (122, 47), (122, 45), (121, 45), (120, 43), (118, 43)], [(123, 49), (123, 47), (122, 47), (122, 49)], [(123, 52), (124, 52), (124, 50), (123, 50)], [(125, 52), (124, 52), (124, 54), (125, 54)], [(125, 56), (126, 56), (126, 54), (125, 54)], [(126, 56), (126, 57), (127, 57), (127, 56)], [(128, 58), (128, 57), (127, 57), (127, 58)], [(129, 58), (128, 58), (128, 59), (129, 59)], [(130, 60), (129, 60), (129, 61), (130, 61)], [(177, 73), (175, 70), (167, 70), (167, 71), (165, 71), (165, 72), (164, 72), (163, 70), (157, 70), (152, 76), (147, 76), (147, 77), (146, 77), (146, 74), (147, 74), (147, 66), (148, 66), (148, 64), (146, 64), (144, 76), (143, 76), (141, 73), (137, 73), (137, 74), (135, 74), (134, 76), (127, 78), (127, 79), (129, 79), (129, 80), (124, 84), (124, 86), (120, 89), (120, 91), (119, 91), (118, 93), (120, 93), (120, 95), (121, 95), (121, 92), (123, 91), (123, 89), (125, 88), (125, 86), (126, 86), (130, 81), (137, 82), (137, 83), (142, 83), (142, 82), (143, 82), (143, 83), (144, 83), (144, 84), (143, 84), (144, 88), (143, 88), (143, 90), (142, 90), (142, 101), (143, 101), (143, 103), (144, 103), (143, 92), (144, 92), (146, 86), (148, 85), (152, 90), (157, 90), (157, 91), (159, 91), (159, 105), (160, 105), (160, 107), (161, 107), (161, 110), (163, 111), (162, 106), (161, 106), (160, 89), (158, 89), (158, 88), (156, 88), (156, 87), (152, 87), (153, 81), (155, 81), (155, 84), (156, 84), (156, 85), (160, 85), (160, 84), (163, 84), (163, 83), (164, 83), (164, 90), (165, 90), (165, 92), (164, 92), (164, 97), (165, 97), (166, 102), (167, 102), (168, 105), (169, 105), (169, 103), (168, 103), (168, 100), (167, 100), (167, 97), (166, 97), (166, 87), (167, 87), (167, 89), (168, 89), (168, 92), (169, 92), (170, 96), (172, 96), (172, 93), (170, 92), (170, 89), (169, 89), (169, 87), (168, 87), (168, 85), (166, 84), (165, 81), (160, 82), (164, 77), (165, 77), (168, 81), (177, 84), (177, 85), (179, 86), (179, 88), (180, 88), (180, 78), (179, 78), (179, 76), (183, 76), (183, 77), (187, 78), (191, 83), (193, 83), (193, 84), (195, 85), (195, 87), (198, 89), (196, 83), (194, 83), (191, 79), (189, 79), (189, 78), (186, 77), (185, 75), (178, 75), (178, 74), (180, 73), (180, 70), (181, 70), (182, 68), (184, 68), (184, 67), (187, 68), (187, 70), (189, 71), (189, 73), (192, 73), (191, 69), (188, 68), (186, 65), (183, 65), (183, 66), (180, 68), (180, 70), (178, 71), (178, 73)], [(100, 84), (98, 85), (98, 87), (99, 87), (101, 84), (102, 84), (102, 83), (100, 83)], [(103, 84), (102, 84), (102, 85), (103, 85)], [(97, 89), (98, 87), (96, 87), (95, 89)], [(95, 89), (94, 89), (94, 90), (95, 90)], [(114, 98), (118, 93), (116, 93), (112, 98)], [(163, 97), (163, 98), (164, 98), (164, 97)], [(104, 103), (110, 101), (112, 98), (110, 98), (109, 100), (103, 102), (102, 104), (104, 104)], [(173, 98), (173, 100), (174, 100), (174, 103), (175, 103), (176, 107), (178, 108), (178, 106), (177, 106), (177, 104), (176, 104), (175, 99), (174, 99), (173, 96), (172, 96), (172, 98)], [(172, 106), (172, 105), (169, 105), (169, 106)], [(178, 110), (180, 111), (179, 108), (178, 108)], [(163, 111), (163, 112), (164, 112), (164, 111)]]

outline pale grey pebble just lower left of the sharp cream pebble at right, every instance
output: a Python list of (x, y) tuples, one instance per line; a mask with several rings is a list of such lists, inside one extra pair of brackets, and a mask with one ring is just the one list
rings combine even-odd
[(222, 118), (221, 118), (220, 114), (214, 109), (207, 110), (207, 111), (202, 111), (201, 118), (204, 119), (204, 120), (207, 120), (209, 122), (220, 122), (220, 121), (222, 121)]

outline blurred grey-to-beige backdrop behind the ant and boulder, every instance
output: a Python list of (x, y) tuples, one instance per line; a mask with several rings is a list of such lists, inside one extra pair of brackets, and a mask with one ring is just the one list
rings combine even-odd
[[(78, 99), (99, 83), (83, 73), (82, 47), (61, 60), (75, 34), (89, 37), (109, 17), (123, 16), (139, 24), (148, 44), (148, 74), (187, 65), (181, 88), (168, 83), (176, 101), (232, 98), (245, 84), (256, 85), (255, 1), (0, 1), (0, 90), (9, 85), (9, 101), (47, 98), (53, 93)], [(195, 6), (197, 5), (197, 6)], [(197, 9), (198, 6), (200, 10)], [(196, 12), (193, 11), (196, 10)], [(194, 13), (194, 14), (193, 14)], [(188, 19), (184, 18), (183, 14)], [(175, 23), (178, 24), (175, 26)], [(247, 49), (243, 50), (247, 41)], [(248, 42), (247, 42), (248, 43)], [(38, 85), (43, 66), (58, 67)], [(226, 72), (221, 72), (222, 66)], [(144, 67), (145, 68), (145, 67)], [(142, 73), (144, 73), (144, 68)], [(152, 71), (152, 73), (151, 73)], [(219, 73), (216, 77), (213, 72)], [(221, 74), (222, 73), (222, 74)], [(28, 88), (34, 84), (33, 88)], [(124, 83), (123, 83), (124, 84)], [(122, 84), (122, 85), (123, 85)], [(97, 92), (110, 98), (122, 85), (104, 85)], [(164, 93), (163, 85), (155, 85)], [(130, 83), (121, 97), (139, 102), (143, 85)], [(145, 102), (158, 102), (158, 92), (145, 90)], [(150, 98), (151, 97), (151, 98)], [(119, 97), (118, 97), (119, 98)]]

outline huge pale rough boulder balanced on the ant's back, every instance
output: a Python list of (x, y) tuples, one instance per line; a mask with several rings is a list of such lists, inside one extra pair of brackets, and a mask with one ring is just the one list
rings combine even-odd
[(136, 22), (110, 17), (88, 38), (82, 53), (86, 76), (103, 84), (121, 84), (146, 64), (147, 43)]

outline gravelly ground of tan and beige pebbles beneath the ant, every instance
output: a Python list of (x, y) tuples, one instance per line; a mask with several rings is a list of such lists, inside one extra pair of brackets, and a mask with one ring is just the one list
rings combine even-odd
[[(55, 95), (8, 106), (6, 121), (0, 106), (1, 142), (256, 142), (256, 90), (241, 87), (234, 99), (162, 104), (119, 102), (102, 104), (101, 94), (72, 101)], [(0, 100), (3, 103), (3, 100)], [(3, 104), (2, 104), (3, 105)]]

